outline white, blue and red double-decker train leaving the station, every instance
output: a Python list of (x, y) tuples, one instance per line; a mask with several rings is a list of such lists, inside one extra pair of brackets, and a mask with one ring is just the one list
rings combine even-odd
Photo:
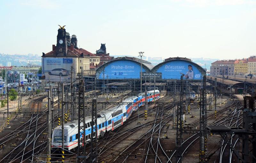
[[(160, 98), (159, 90), (151, 90), (147, 92), (147, 102), (153, 102)], [(114, 129), (124, 124), (133, 112), (145, 105), (145, 93), (140, 93), (137, 96), (128, 97), (123, 101), (124, 104), (104, 110), (97, 113), (97, 136), (101, 137), (106, 132), (111, 132)], [(90, 141), (92, 117), (85, 117), (85, 141)], [(94, 132), (95, 133), (95, 132)], [(62, 146), (61, 126), (54, 128), (52, 133), (52, 151), (60, 150)], [(78, 135), (78, 120), (64, 124), (64, 149), (71, 151), (77, 147), (78, 140), (83, 140), (83, 135)]]

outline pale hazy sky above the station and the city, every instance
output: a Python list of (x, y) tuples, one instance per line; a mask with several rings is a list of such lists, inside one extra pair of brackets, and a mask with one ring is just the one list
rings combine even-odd
[(92, 53), (246, 58), (256, 54), (256, 0), (0, 1), (0, 53), (52, 50), (58, 25)]

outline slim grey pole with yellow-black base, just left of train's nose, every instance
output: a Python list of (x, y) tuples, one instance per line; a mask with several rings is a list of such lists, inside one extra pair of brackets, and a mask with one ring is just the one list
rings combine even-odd
[[(51, 158), (51, 90), (48, 91), (48, 114), (47, 114), (47, 122), (48, 122), (48, 155), (47, 155), (47, 159)], [(63, 131), (62, 131), (63, 132)], [(50, 160), (50, 159), (49, 159)]]

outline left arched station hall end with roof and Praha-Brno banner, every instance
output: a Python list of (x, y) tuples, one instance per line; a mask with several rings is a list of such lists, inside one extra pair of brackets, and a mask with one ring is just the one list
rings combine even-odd
[[(142, 72), (150, 72), (154, 67), (150, 62), (142, 59)], [(127, 66), (127, 68), (125, 68)], [(114, 70), (110, 70), (114, 68)], [(104, 71), (105, 70), (105, 71)], [(104, 72), (103, 72), (104, 71)], [(133, 71), (133, 72), (132, 72)], [(104, 75), (103, 75), (104, 73)], [(134, 57), (117, 57), (101, 65), (96, 70), (96, 78), (102, 79), (139, 79), (140, 78), (140, 59)]]

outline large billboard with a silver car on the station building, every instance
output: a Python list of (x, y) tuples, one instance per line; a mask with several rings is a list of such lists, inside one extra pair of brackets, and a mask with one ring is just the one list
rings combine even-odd
[[(42, 75), (46, 81), (70, 82), (71, 66), (75, 67), (75, 58), (42, 58)], [(73, 73), (74, 75), (76, 73)]]

